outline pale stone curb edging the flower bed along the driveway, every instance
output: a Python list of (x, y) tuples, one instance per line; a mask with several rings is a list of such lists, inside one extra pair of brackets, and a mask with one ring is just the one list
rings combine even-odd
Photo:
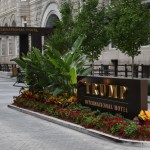
[(96, 138), (99, 138), (99, 139), (107, 139), (109, 141), (116, 142), (116, 143), (121, 143), (123, 145), (128, 145), (128, 146), (129, 145), (130, 146), (137, 146), (137, 147), (149, 147), (150, 146), (150, 142), (148, 142), (148, 141), (137, 141), (137, 140), (128, 140), (128, 139), (118, 138), (118, 137), (115, 137), (115, 136), (112, 136), (112, 135), (109, 135), (109, 134), (106, 134), (106, 133), (103, 133), (103, 132), (100, 132), (100, 131), (96, 131), (96, 130), (93, 130), (93, 129), (86, 129), (86, 128), (80, 126), (80, 125), (70, 123), (70, 122), (67, 122), (67, 121), (63, 121), (63, 120), (60, 120), (60, 119), (57, 119), (57, 118), (54, 118), (54, 117), (50, 117), (50, 116), (47, 116), (47, 115), (44, 115), (44, 114), (40, 114), (38, 112), (27, 110), (27, 109), (24, 109), (24, 108), (20, 108), (20, 107), (14, 106), (14, 105), (8, 105), (8, 107), (11, 108), (11, 109), (15, 109), (17, 111), (23, 112), (25, 114), (32, 115), (34, 117), (37, 117), (37, 118), (40, 118), (40, 119), (43, 119), (43, 120), (61, 125), (61, 126), (64, 126), (66, 128), (70, 128), (70, 129), (82, 132), (84, 134), (87, 134), (87, 135), (90, 135), (90, 136), (93, 136), (93, 137), (96, 137)]

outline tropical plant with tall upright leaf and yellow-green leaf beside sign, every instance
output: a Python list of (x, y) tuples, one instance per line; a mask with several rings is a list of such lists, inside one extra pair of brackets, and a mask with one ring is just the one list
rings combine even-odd
[(84, 36), (79, 37), (73, 44), (71, 50), (61, 55), (59, 51), (53, 49), (47, 44), (45, 57), (52, 64), (54, 73), (49, 74), (52, 81), (53, 95), (66, 93), (72, 95), (77, 85), (77, 75), (88, 75), (92, 68), (83, 68), (87, 63), (87, 57), (82, 53), (80, 46), (84, 40)]

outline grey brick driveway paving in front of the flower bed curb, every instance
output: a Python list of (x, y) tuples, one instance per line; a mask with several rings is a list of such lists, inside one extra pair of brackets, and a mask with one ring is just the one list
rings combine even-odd
[(19, 88), (0, 78), (0, 150), (149, 150), (98, 139), (7, 107)]

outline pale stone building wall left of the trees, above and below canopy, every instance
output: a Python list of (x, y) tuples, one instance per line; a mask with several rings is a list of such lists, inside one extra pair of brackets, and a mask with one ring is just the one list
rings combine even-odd
[[(52, 27), (61, 0), (0, 0), (1, 27)], [(0, 64), (19, 56), (19, 37), (0, 35)], [(30, 39), (29, 39), (30, 40)]]

